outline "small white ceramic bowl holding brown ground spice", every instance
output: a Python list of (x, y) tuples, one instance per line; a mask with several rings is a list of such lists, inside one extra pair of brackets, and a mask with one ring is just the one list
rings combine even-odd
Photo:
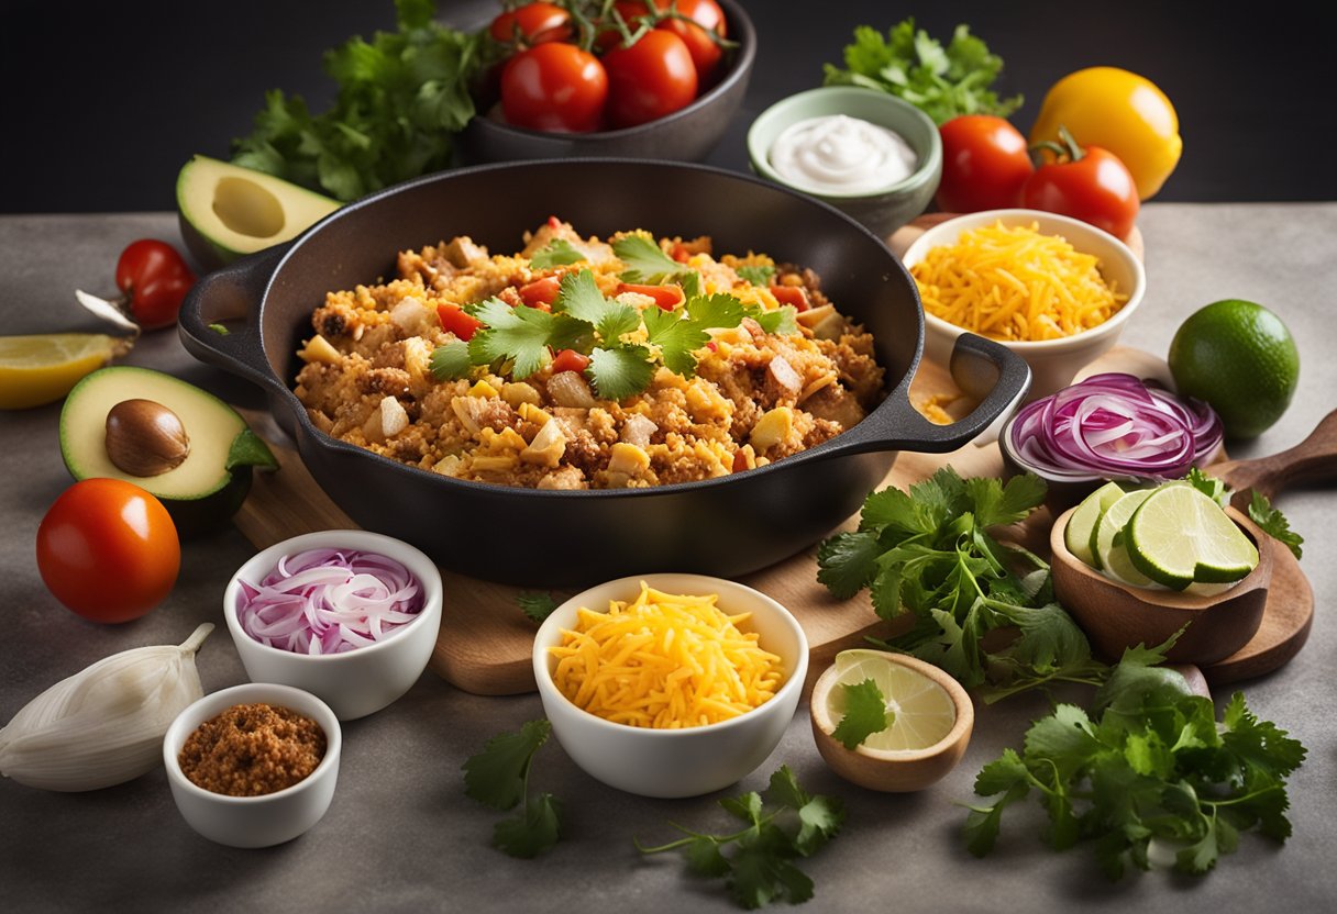
[[(227, 796), (194, 784), (178, 756), (199, 724), (234, 704), (265, 703), (290, 708), (316, 720), (325, 731), (325, 758), (305, 779), (263, 796)], [(163, 738), (163, 764), (172, 799), (191, 828), (231, 847), (270, 847), (308, 831), (321, 820), (334, 796), (344, 738), (328, 704), (310, 692), (274, 683), (247, 683), (199, 699), (172, 720)]]

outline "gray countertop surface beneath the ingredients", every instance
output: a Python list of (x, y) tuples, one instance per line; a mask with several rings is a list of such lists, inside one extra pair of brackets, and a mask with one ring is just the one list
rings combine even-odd
[[(1275, 310), (1301, 353), (1290, 410), (1231, 456), (1297, 444), (1337, 405), (1332, 290), (1337, 287), (1337, 203), (1150, 204), (1140, 218), (1148, 291), (1123, 343), (1163, 355), (1179, 322), (1219, 298)], [(0, 216), (0, 309), (7, 334), (94, 329), (74, 289), (110, 294), (130, 241), (176, 241), (174, 214)], [(148, 334), (127, 359), (183, 374), (234, 401), (254, 392), (195, 363), (171, 331)], [(183, 547), (180, 580), (147, 617), (102, 627), (62, 608), (33, 560), (37, 524), (70, 484), (56, 441), (59, 405), (0, 413), (0, 573), (7, 636), (0, 640), (0, 720), (87, 664), (130, 647), (179, 643), (203, 620), (222, 623), (223, 585), (254, 549), (235, 530)], [(1246, 835), (1201, 879), (1132, 874), (1108, 883), (1083, 849), (1055, 854), (1038, 839), (1040, 811), (1008, 814), (1000, 846), (983, 861), (961, 839), (980, 766), (1020, 746), (1043, 695), (980, 708), (963, 764), (931, 790), (880, 795), (830, 772), (801, 708), (774, 755), (737, 790), (761, 790), (789, 764), (813, 792), (844, 798), (844, 832), (804, 862), (812, 910), (999, 911), (1114, 906), (1146, 911), (1296, 911), (1337, 905), (1337, 502), (1324, 488), (1278, 500), (1305, 537), (1304, 569), (1317, 617), (1305, 649), (1281, 671), (1238, 686), (1251, 710), (1309, 748), (1290, 780), (1294, 835), (1280, 847)], [(449, 599), (449, 595), (447, 595)], [(199, 655), (206, 691), (245, 680), (226, 629)], [(1225, 692), (1225, 690), (1223, 690)], [(1086, 695), (1076, 692), (1078, 700)], [(1218, 703), (1229, 694), (1218, 694)], [(460, 766), (485, 739), (541, 715), (536, 696), (479, 698), (428, 672), (400, 702), (345, 726), (338, 791), (329, 814), (287, 845), (243, 851), (198, 836), (178, 815), (163, 771), (90, 794), (52, 794), (0, 782), (0, 894), (8, 910), (734, 910), (714, 882), (685, 874), (666, 854), (642, 859), (632, 836), (667, 839), (668, 822), (725, 826), (717, 796), (651, 800), (603, 787), (555, 743), (531, 787), (566, 802), (566, 835), (536, 861), (493, 850), (497, 815), (463, 794)]]

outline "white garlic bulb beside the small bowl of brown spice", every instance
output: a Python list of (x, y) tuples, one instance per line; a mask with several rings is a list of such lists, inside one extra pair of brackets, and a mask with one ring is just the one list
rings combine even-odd
[(179, 647), (114, 653), (63, 679), (0, 728), (0, 775), (43, 790), (98, 790), (162, 763), (167, 727), (203, 696), (195, 651), (205, 623)]

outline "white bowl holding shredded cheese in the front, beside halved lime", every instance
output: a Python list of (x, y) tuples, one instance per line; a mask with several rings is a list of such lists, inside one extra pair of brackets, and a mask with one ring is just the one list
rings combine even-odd
[[(572, 704), (552, 681), (556, 660), (548, 648), (562, 644), (562, 629), (575, 627), (582, 607), (607, 612), (611, 600), (634, 600), (640, 581), (666, 593), (718, 593), (725, 612), (753, 613), (739, 627), (755, 631), (759, 645), (785, 663), (775, 696), (733, 720), (683, 730), (628, 727)], [(642, 796), (699, 796), (751, 774), (785, 735), (806, 676), (808, 637), (798, 620), (765, 593), (705, 575), (636, 575), (592, 587), (558, 607), (533, 639), (533, 677), (562, 748), (592, 778)]]

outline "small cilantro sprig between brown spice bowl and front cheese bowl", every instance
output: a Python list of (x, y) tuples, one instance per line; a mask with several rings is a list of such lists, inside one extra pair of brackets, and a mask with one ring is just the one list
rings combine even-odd
[(531, 858), (551, 850), (562, 836), (562, 807), (552, 794), (529, 795), (533, 755), (547, 742), (552, 724), (529, 720), (519, 732), (499, 734), (464, 763), (464, 792), (493, 810), (520, 814), (497, 822), (492, 846), (511, 857)]

